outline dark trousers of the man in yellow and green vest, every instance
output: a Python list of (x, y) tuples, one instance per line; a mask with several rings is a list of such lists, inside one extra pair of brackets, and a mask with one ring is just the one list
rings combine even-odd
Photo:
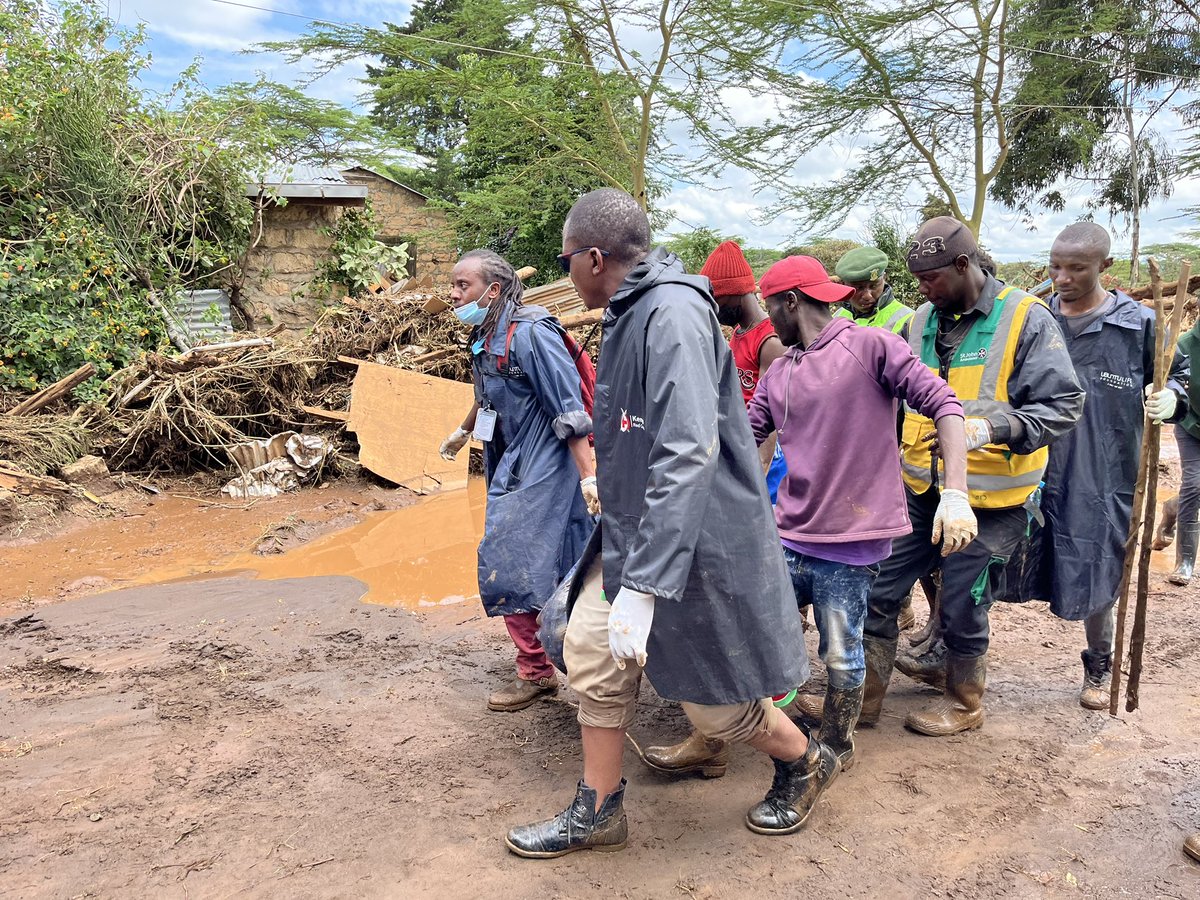
[(940, 493), (905, 491), (912, 534), (898, 538), (892, 556), (880, 564), (880, 576), (866, 602), (863, 634), (894, 641), (900, 636), (896, 616), (917, 578), (942, 570), (942, 629), (946, 648), (959, 656), (982, 656), (988, 650), (988, 607), (1003, 595), (1004, 569), (1025, 536), (1024, 506), (977, 509), (979, 536), (966, 550), (943, 558), (930, 542)]

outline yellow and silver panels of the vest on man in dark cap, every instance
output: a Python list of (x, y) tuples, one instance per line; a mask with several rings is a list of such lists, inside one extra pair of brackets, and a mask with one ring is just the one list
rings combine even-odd
[[(1004, 288), (996, 296), (992, 314), (972, 326), (994, 329), (985, 346), (971, 349), (971, 335), (955, 350), (947, 380), (968, 416), (990, 416), (1013, 410), (1008, 401), (1008, 379), (1021, 337), (1025, 317), (1033, 304), (1042, 302), (1032, 294)], [(924, 304), (913, 316), (908, 328), (908, 343), (922, 361), (935, 373), (938, 371), (934, 341), (937, 320), (932, 306)], [(929, 334), (926, 334), (926, 331)], [(983, 335), (977, 337), (982, 338)], [(979, 344), (979, 341), (976, 341)], [(964, 359), (965, 356), (970, 359)], [(931, 419), (905, 406), (904, 438), (900, 442), (904, 480), (916, 493), (930, 487), (929, 442), (922, 438), (935, 430)], [(1020, 506), (1037, 488), (1045, 472), (1050, 451), (1046, 448), (1032, 454), (1014, 454), (1002, 444), (988, 444), (967, 454), (967, 494), (971, 505), (982, 509)]]

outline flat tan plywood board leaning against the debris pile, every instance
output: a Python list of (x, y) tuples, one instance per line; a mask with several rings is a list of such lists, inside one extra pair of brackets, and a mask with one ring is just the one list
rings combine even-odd
[(359, 462), (418, 493), (467, 484), (467, 452), (438, 454), (474, 402), (469, 384), (392, 366), (360, 362), (346, 427), (358, 434)]

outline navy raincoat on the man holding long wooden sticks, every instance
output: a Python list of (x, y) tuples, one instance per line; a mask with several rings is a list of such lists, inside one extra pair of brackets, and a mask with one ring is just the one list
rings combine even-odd
[[(1142, 392), (1154, 380), (1154, 312), (1117, 292), (1116, 306), (1072, 337), (1057, 294), (1049, 305), (1087, 401), (1075, 428), (1050, 445), (1038, 587), (1055, 616), (1078, 620), (1111, 605), (1121, 582), (1141, 455)], [(1182, 394), (1176, 378), (1186, 371), (1176, 356), (1168, 386)]]

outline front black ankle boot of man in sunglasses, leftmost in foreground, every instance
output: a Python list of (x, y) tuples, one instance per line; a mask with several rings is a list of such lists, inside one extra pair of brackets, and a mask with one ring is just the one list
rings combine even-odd
[(570, 806), (548, 822), (517, 826), (504, 838), (504, 845), (527, 859), (552, 859), (577, 850), (624, 850), (629, 838), (624, 799), (622, 779), (596, 812), (596, 792), (580, 781)]

